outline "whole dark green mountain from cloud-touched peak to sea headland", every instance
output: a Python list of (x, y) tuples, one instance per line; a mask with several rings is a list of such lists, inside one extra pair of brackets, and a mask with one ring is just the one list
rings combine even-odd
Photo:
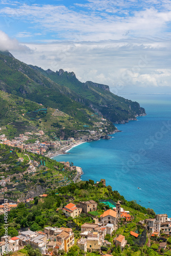
[(139, 103), (114, 95), (103, 84), (82, 83), (73, 72), (28, 66), (8, 52), (0, 53), (0, 69), (0, 90), (57, 108), (81, 122), (91, 122), (88, 112), (116, 123), (145, 115)]

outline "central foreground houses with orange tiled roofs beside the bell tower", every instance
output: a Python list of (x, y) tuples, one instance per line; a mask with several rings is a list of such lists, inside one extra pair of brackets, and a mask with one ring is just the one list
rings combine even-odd
[[(118, 211), (121, 212), (120, 203), (117, 202), (116, 205)], [(78, 205), (69, 203), (62, 209), (66, 217), (72, 218), (79, 216), (82, 211), (88, 214), (96, 210), (97, 203), (94, 200), (80, 202)], [(104, 238), (106, 234), (110, 234), (110, 236), (112, 236), (112, 232), (117, 229), (118, 215), (120, 216), (120, 218), (122, 218), (119, 212), (109, 209), (104, 211), (103, 214), (100, 216), (100, 223), (84, 223), (81, 226), (81, 238), (77, 241), (78, 247), (84, 252), (100, 252), (101, 247), (109, 247), (111, 243)], [(118, 238), (116, 238), (115, 243), (120, 244), (120, 248), (123, 250), (126, 245), (124, 236), (120, 235)]]

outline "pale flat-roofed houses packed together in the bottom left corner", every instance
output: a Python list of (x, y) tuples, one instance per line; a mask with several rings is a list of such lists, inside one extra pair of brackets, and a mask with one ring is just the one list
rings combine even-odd
[[(7, 241), (8, 238), (8, 242)], [(19, 231), (17, 237), (1, 237), (0, 256), (7, 250), (15, 252), (30, 244), (33, 249), (38, 248), (43, 256), (57, 255), (59, 250), (68, 252), (74, 245), (74, 233), (71, 228), (46, 227), (42, 231)]]

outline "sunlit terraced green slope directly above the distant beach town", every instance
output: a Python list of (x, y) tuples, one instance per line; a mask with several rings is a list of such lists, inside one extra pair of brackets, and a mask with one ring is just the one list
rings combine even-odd
[[(93, 115), (89, 110), (83, 111), (84, 119), (87, 121), (89, 118), (88, 122), (81, 122), (57, 109), (45, 108), (44, 105), (0, 91), (0, 133), (6, 134), (10, 139), (25, 132), (39, 130), (52, 139), (77, 137), (80, 134), (75, 134), (77, 130), (86, 130), (87, 126), (89, 130), (95, 130), (94, 123), (100, 120), (99, 116)], [(110, 122), (106, 126), (109, 132), (115, 129)]]

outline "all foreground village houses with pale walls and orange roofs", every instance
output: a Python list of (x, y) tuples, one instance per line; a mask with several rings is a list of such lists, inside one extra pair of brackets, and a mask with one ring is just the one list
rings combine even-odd
[[(104, 184), (105, 185), (105, 184)], [(41, 197), (47, 197), (48, 195), (41, 195)], [(32, 201), (33, 198), (29, 198), (27, 202)], [(9, 209), (16, 207), (12, 203), (8, 203)], [(3, 206), (0, 205), (0, 209)], [(62, 208), (63, 214), (68, 218), (76, 218), (81, 212), (88, 215), (92, 211), (97, 210), (97, 203), (94, 200), (79, 202), (77, 205), (69, 203)], [(112, 236), (114, 230), (118, 228), (118, 220), (124, 218), (126, 221), (130, 221), (132, 217), (129, 211), (125, 211), (121, 206), (120, 202), (116, 203), (116, 207), (108, 209), (100, 215), (99, 221), (95, 223), (84, 223), (81, 226), (80, 239), (77, 240), (77, 246), (84, 252), (97, 251), (101, 252), (104, 248), (111, 246), (111, 243), (105, 240), (106, 234)], [(146, 219), (141, 221), (141, 225), (146, 225), (149, 232), (153, 236), (159, 236), (159, 234), (171, 234), (171, 220), (166, 214), (156, 215), (155, 219)], [(139, 234), (133, 231), (130, 232), (132, 236), (138, 238)], [(38, 248), (43, 256), (47, 255), (58, 255), (59, 251), (68, 252), (69, 249), (74, 245), (74, 232), (72, 228), (66, 227), (45, 227), (44, 232), (42, 231), (19, 231), (17, 237), (11, 238), (1, 237), (0, 242), (0, 256), (5, 252), (8, 244), (8, 251), (17, 251), (22, 246), (30, 244), (34, 249)], [(118, 234), (113, 243), (116, 247), (120, 247), (121, 251), (124, 250), (127, 241), (122, 234)], [(166, 242), (160, 243), (160, 248), (166, 248)]]

